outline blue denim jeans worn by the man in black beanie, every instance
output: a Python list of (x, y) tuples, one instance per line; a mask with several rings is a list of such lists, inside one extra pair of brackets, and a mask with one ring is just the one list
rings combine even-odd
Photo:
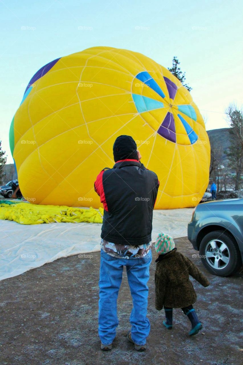
[(110, 345), (116, 336), (118, 326), (116, 301), (122, 280), (123, 266), (132, 295), (133, 308), (130, 315), (132, 340), (145, 345), (150, 332), (147, 316), (149, 266), (151, 250), (143, 258), (116, 258), (105, 251), (100, 252), (100, 299), (99, 336), (103, 345)]

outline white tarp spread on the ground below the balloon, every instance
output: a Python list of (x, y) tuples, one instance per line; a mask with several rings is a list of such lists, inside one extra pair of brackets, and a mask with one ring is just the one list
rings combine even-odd
[[(155, 210), (152, 239), (160, 232), (173, 238), (187, 235), (193, 208)], [(101, 224), (53, 223), (22, 225), (0, 220), (0, 280), (47, 262), (100, 250)]]

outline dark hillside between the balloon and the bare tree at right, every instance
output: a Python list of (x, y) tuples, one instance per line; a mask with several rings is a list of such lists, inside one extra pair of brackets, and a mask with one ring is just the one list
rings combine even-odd
[(229, 142), (230, 128), (212, 129), (207, 131), (211, 149), (217, 151), (222, 158), (222, 162), (227, 160), (224, 151), (230, 146)]

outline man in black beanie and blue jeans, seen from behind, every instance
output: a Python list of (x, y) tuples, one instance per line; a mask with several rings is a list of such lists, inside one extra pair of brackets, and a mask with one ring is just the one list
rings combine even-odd
[(146, 350), (150, 332), (147, 318), (153, 209), (158, 193), (157, 175), (140, 162), (134, 139), (116, 138), (115, 165), (97, 176), (95, 191), (104, 205), (101, 228), (99, 336), (102, 350), (111, 350), (116, 335), (117, 296), (126, 266), (133, 308), (128, 340), (138, 351)]

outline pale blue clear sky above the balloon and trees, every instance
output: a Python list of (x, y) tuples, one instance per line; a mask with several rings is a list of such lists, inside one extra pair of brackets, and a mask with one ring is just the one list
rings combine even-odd
[(0, 0), (0, 14), (0, 139), (7, 163), (13, 162), (9, 126), (33, 74), (92, 46), (137, 51), (165, 67), (176, 55), (207, 130), (228, 126), (230, 102), (242, 105), (240, 0)]

